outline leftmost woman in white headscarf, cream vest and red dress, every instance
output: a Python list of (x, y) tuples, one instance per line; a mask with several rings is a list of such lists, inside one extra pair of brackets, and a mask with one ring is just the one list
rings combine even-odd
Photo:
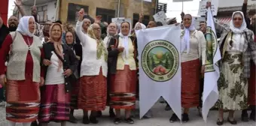
[[(0, 50), (0, 83), (5, 83), (5, 61), (7, 65), (7, 106), (8, 126), (21, 122), (30, 126), (38, 118), (40, 105), (39, 86), (44, 84), (41, 71), (42, 43), (34, 35), (34, 17), (22, 17), (17, 31), (11, 32)], [(9, 54), (9, 55), (8, 55)]]

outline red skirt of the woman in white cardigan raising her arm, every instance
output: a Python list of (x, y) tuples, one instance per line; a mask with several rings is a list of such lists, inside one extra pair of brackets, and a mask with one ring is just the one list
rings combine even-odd
[(107, 101), (107, 79), (100, 68), (97, 76), (84, 76), (80, 79), (78, 109), (102, 111)]

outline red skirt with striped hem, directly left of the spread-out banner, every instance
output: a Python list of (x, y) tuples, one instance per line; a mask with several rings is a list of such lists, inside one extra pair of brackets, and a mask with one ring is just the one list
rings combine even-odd
[(114, 109), (135, 109), (137, 72), (129, 65), (111, 75), (110, 107)]

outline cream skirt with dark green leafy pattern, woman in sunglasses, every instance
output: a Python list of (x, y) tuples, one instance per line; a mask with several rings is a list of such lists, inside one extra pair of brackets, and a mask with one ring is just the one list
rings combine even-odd
[(216, 107), (224, 110), (248, 108), (248, 80), (242, 74), (242, 53), (226, 52), (218, 80), (219, 98)]

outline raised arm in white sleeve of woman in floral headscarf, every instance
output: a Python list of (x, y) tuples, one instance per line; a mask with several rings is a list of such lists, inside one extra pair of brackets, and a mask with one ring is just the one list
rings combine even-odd
[(84, 32), (82, 31), (83, 18), (84, 18), (84, 9), (82, 8), (78, 13), (79, 13), (79, 18), (78, 18), (78, 23), (75, 27), (75, 32), (78, 35), (78, 38), (81, 41), (81, 44), (83, 46), (85, 46), (85, 43), (87, 41), (87, 34), (84, 34)]

